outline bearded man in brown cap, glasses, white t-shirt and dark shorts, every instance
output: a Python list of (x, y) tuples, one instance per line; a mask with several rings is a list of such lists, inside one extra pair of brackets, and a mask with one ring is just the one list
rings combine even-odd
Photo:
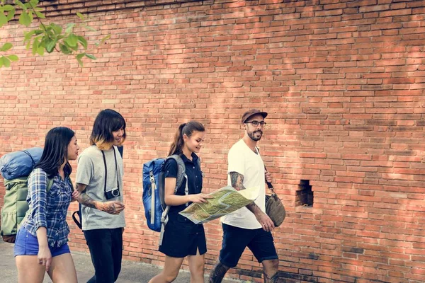
[(266, 214), (266, 180), (271, 175), (264, 168), (256, 147), (266, 126), (267, 112), (257, 109), (242, 115), (245, 134), (229, 150), (227, 183), (236, 190), (256, 187), (259, 196), (251, 204), (222, 217), (223, 242), (219, 261), (210, 272), (210, 283), (222, 282), (227, 270), (237, 265), (246, 247), (263, 265), (264, 282), (278, 282), (278, 255), (271, 231), (273, 221)]

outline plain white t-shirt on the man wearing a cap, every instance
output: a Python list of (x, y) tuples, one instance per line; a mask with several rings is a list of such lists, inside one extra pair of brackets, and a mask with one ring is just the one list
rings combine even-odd
[[(230, 172), (237, 172), (244, 175), (244, 187), (246, 189), (251, 187), (257, 188), (259, 195), (255, 203), (263, 212), (266, 212), (266, 177), (264, 175), (264, 163), (260, 153), (254, 153), (254, 151), (245, 144), (245, 141), (240, 139), (229, 150), (228, 163), (229, 167), (227, 169), (227, 174)], [(227, 184), (232, 185), (230, 175), (227, 175)], [(261, 228), (259, 221), (257, 221), (254, 214), (246, 207), (242, 207), (235, 212), (222, 216), (221, 221), (224, 224), (244, 229)]]

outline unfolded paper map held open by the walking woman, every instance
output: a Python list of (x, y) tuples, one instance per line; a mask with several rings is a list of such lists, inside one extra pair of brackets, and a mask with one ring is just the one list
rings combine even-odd
[(258, 193), (259, 190), (255, 187), (240, 191), (234, 190), (231, 186), (222, 187), (208, 194), (211, 196), (208, 202), (192, 203), (180, 214), (195, 224), (203, 224), (254, 202)]

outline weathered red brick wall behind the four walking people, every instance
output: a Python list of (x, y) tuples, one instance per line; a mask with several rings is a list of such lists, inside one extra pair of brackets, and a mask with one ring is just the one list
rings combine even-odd
[[(425, 282), (424, 1), (61, 2), (52, 20), (91, 11), (98, 31), (86, 35), (111, 40), (81, 69), (31, 56), (20, 27), (1, 28), (21, 61), (0, 70), (0, 154), (42, 146), (57, 125), (85, 148), (96, 113), (121, 112), (125, 258), (164, 260), (145, 226), (142, 163), (166, 154), (179, 123), (199, 120), (205, 190), (216, 190), (239, 117), (255, 107), (269, 112), (259, 146), (288, 212), (273, 233), (287, 282)], [(313, 207), (295, 207), (300, 180)], [(205, 227), (210, 269), (222, 231)], [(70, 240), (86, 250), (80, 231)], [(229, 277), (262, 282), (260, 270), (246, 251)]]

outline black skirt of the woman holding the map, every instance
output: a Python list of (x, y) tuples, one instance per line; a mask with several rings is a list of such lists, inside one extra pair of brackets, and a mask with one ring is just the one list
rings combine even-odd
[(169, 214), (159, 251), (173, 258), (184, 258), (196, 255), (198, 250), (200, 255), (207, 252), (203, 225), (194, 224), (180, 214)]

